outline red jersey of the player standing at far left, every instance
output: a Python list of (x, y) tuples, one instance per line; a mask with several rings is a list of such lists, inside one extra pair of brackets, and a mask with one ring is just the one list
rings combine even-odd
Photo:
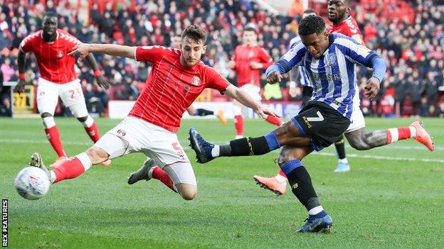
[(63, 84), (72, 82), (78, 76), (74, 71), (75, 57), (68, 55), (80, 40), (60, 29), (52, 43), (43, 40), (43, 31), (26, 36), (21, 43), (22, 52), (32, 51), (37, 59), (40, 77), (50, 82)]

